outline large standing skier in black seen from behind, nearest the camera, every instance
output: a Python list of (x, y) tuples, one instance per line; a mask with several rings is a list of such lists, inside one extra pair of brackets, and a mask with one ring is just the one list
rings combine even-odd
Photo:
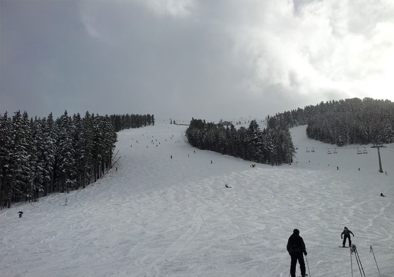
[(295, 269), (298, 264), (300, 265), (301, 276), (304, 277), (305, 274), (305, 262), (302, 253), (307, 255), (307, 250), (305, 250), (305, 244), (303, 239), (299, 236), (300, 231), (298, 229), (293, 230), (293, 235), (290, 236), (287, 242), (287, 251), (291, 257), (291, 265), (290, 265), (290, 275), (291, 277), (295, 277)]

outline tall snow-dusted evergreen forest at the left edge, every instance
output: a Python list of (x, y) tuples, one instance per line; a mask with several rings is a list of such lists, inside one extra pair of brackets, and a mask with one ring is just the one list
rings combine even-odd
[(29, 119), (27, 112), (0, 115), (0, 206), (34, 201), (96, 182), (111, 165), (114, 120), (86, 112)]

